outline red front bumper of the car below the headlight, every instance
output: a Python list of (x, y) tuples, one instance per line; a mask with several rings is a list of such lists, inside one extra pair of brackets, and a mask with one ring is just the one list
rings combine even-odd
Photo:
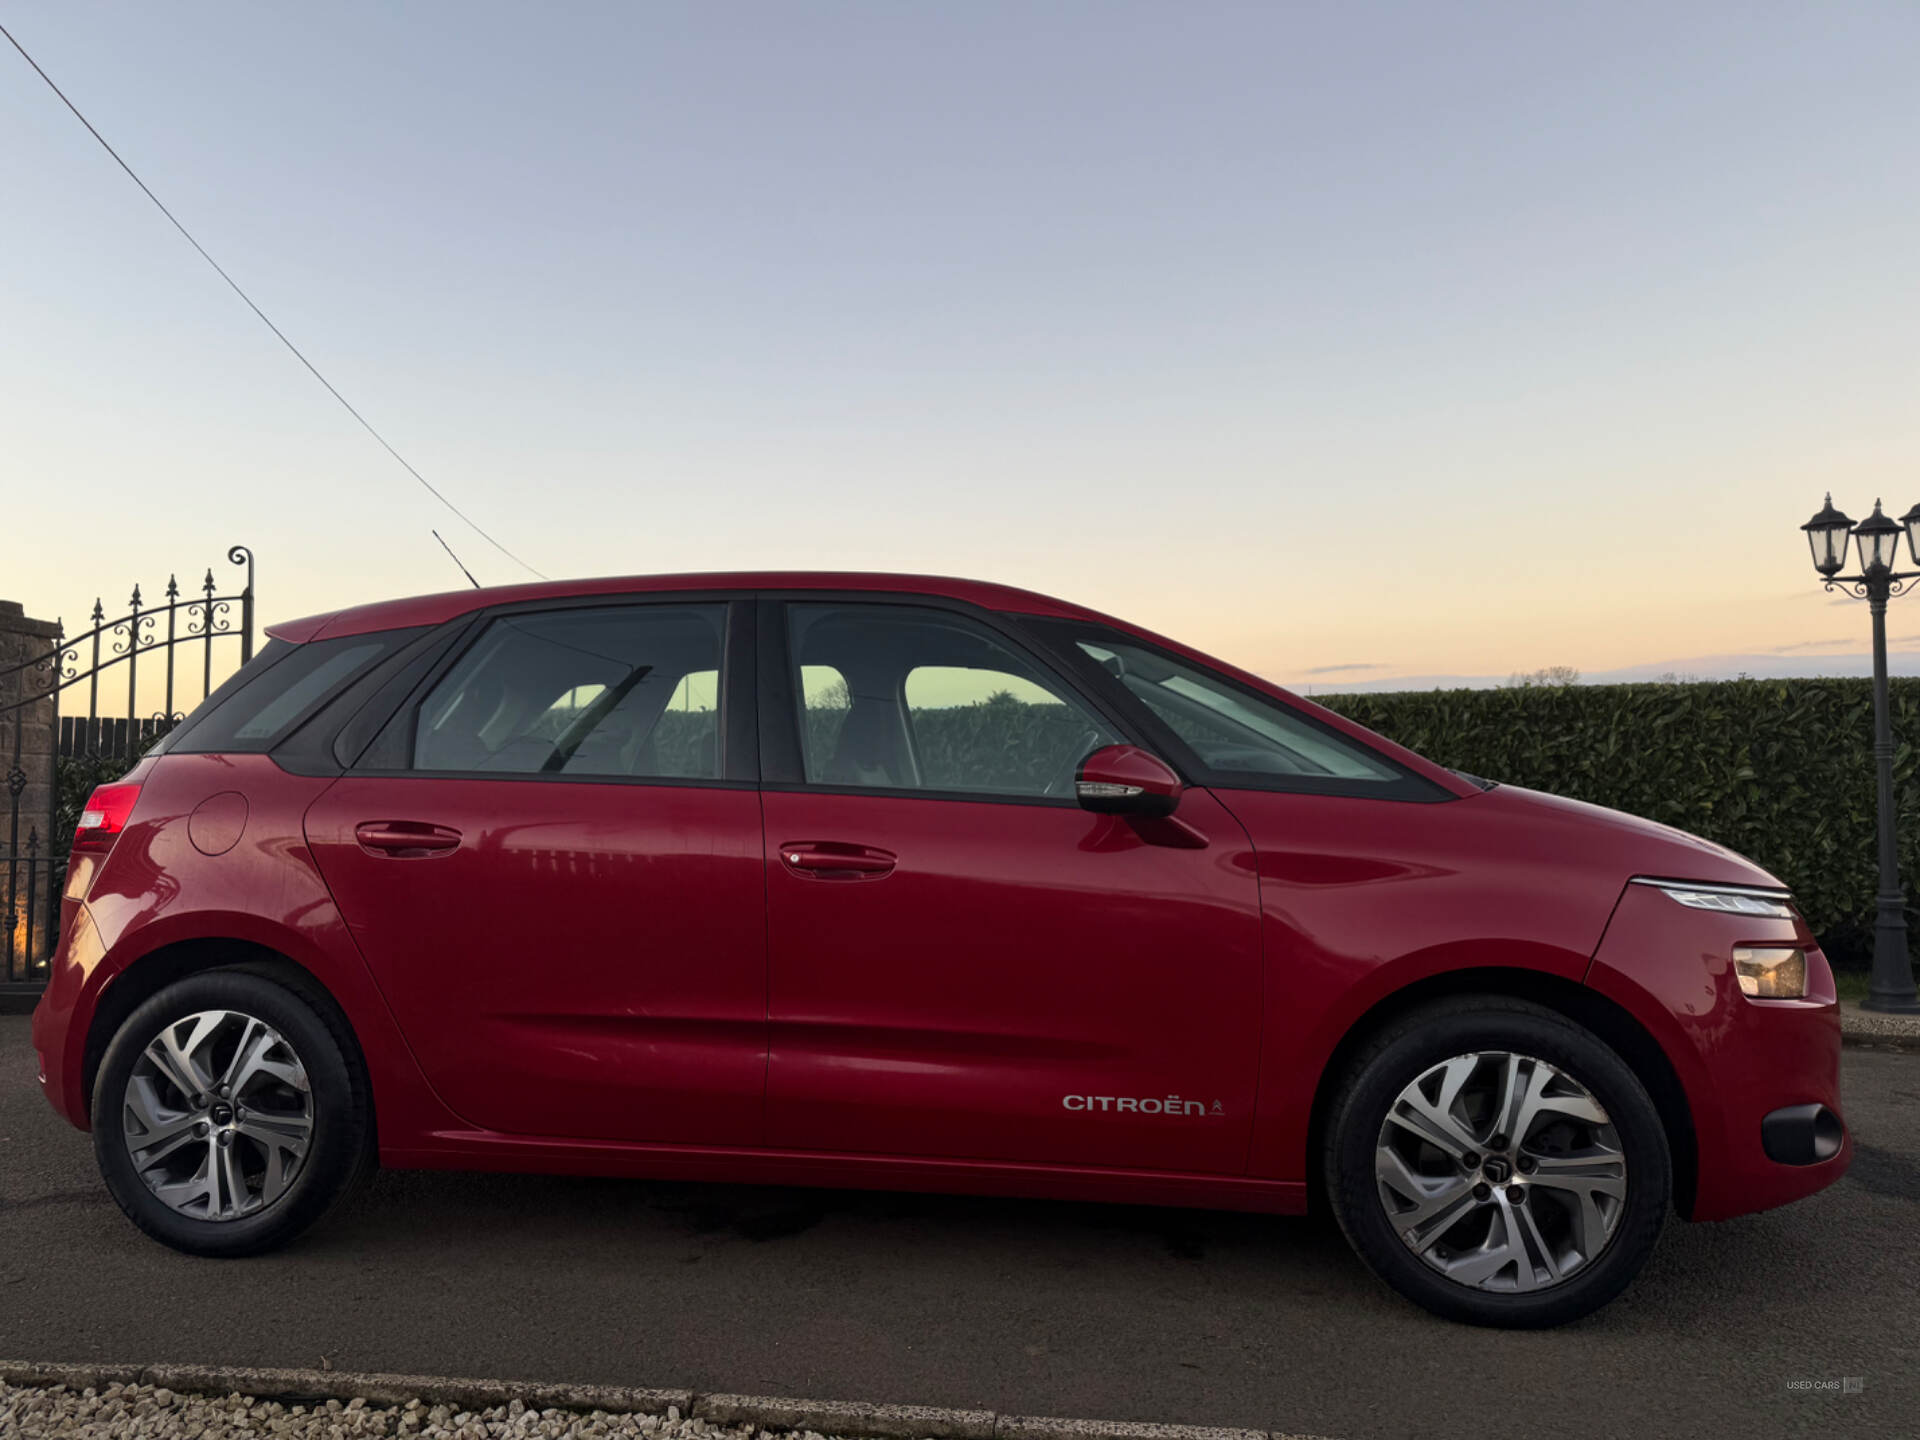
[[(1807, 996), (1741, 995), (1736, 945), (1801, 947)], [(1839, 1000), (1805, 922), (1690, 910), (1628, 885), (1588, 983), (1653, 1035), (1680, 1081), (1693, 1131), (1692, 1219), (1784, 1206), (1847, 1173)]]

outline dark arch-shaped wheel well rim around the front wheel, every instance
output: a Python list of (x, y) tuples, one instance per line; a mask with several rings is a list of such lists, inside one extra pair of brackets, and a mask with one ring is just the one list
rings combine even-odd
[(1661, 1050), (1659, 1041), (1624, 1006), (1578, 981), (1548, 975), (1538, 970), (1505, 970), (1498, 966), (1448, 970), (1438, 975), (1427, 975), (1382, 996), (1348, 1025), (1321, 1068), (1313, 1089), (1313, 1108), (1308, 1121), (1309, 1204), (1325, 1204), (1327, 1177), (1323, 1150), (1327, 1112), (1340, 1092), (1354, 1056), (1380, 1027), (1434, 1000), (1461, 995), (1500, 995), (1530, 1000), (1592, 1031), (1619, 1054), (1640, 1083), (1647, 1087), (1647, 1096), (1653, 1100), (1661, 1116), (1661, 1125), (1667, 1131), (1667, 1148), (1672, 1154), (1674, 1167), (1674, 1210), (1682, 1215), (1692, 1215), (1699, 1181), (1699, 1144), (1693, 1129), (1693, 1110), (1688, 1104), (1680, 1075), (1674, 1071), (1667, 1052)]

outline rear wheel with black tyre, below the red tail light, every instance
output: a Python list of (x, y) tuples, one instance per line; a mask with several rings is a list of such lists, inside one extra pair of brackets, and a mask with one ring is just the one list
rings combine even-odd
[(353, 1188), (372, 1154), (371, 1100), (351, 1035), (324, 1010), (236, 968), (188, 975), (127, 1016), (92, 1121), (100, 1175), (134, 1225), (194, 1256), (253, 1256)]

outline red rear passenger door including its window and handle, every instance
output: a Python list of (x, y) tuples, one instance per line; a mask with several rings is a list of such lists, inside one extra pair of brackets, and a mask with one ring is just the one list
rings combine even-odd
[(307, 812), (409, 1044), (472, 1125), (760, 1140), (751, 611), (497, 612)]

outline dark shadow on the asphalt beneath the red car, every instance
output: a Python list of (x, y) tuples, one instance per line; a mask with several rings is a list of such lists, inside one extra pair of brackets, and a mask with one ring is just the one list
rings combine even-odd
[[(1816, 1263), (1818, 1212), (1859, 1188), (1912, 1181), (1903, 1156), (1866, 1156), (1859, 1179), (1841, 1181), (1791, 1212), (1707, 1225), (1672, 1217), (1647, 1271), (1611, 1306), (1557, 1331), (1563, 1336), (1667, 1332), (1753, 1323), (1799, 1306), (1820, 1306), (1855, 1284)], [(1809, 1229), (1809, 1223), (1812, 1227)], [(536, 1233), (538, 1231), (538, 1233)], [(781, 1252), (780, 1284), (810, 1269), (874, 1267), (887, 1284), (964, 1284), (985, 1269), (1016, 1288), (1021, 1279), (1079, 1271), (1085, 1281), (1127, 1271), (1162, 1300), (1212, 1296), (1225, 1306), (1317, 1298), (1329, 1317), (1423, 1331), (1448, 1321), (1425, 1315), (1367, 1273), (1332, 1219), (1219, 1210), (1114, 1206), (893, 1190), (707, 1185), (636, 1179), (488, 1175), (463, 1171), (380, 1173), (324, 1227), (296, 1242), (311, 1263), (357, 1254), (453, 1261), (461, 1252), (593, 1256), (609, 1269), (632, 1265), (745, 1265), (755, 1248)], [(1782, 1267), (1797, 1271), (1791, 1294)], [(1148, 1277), (1158, 1275), (1160, 1281)], [(772, 1277), (766, 1277), (772, 1279)], [(1077, 1284), (1079, 1281), (1075, 1281)], [(1828, 1292), (1834, 1294), (1828, 1294)]]

